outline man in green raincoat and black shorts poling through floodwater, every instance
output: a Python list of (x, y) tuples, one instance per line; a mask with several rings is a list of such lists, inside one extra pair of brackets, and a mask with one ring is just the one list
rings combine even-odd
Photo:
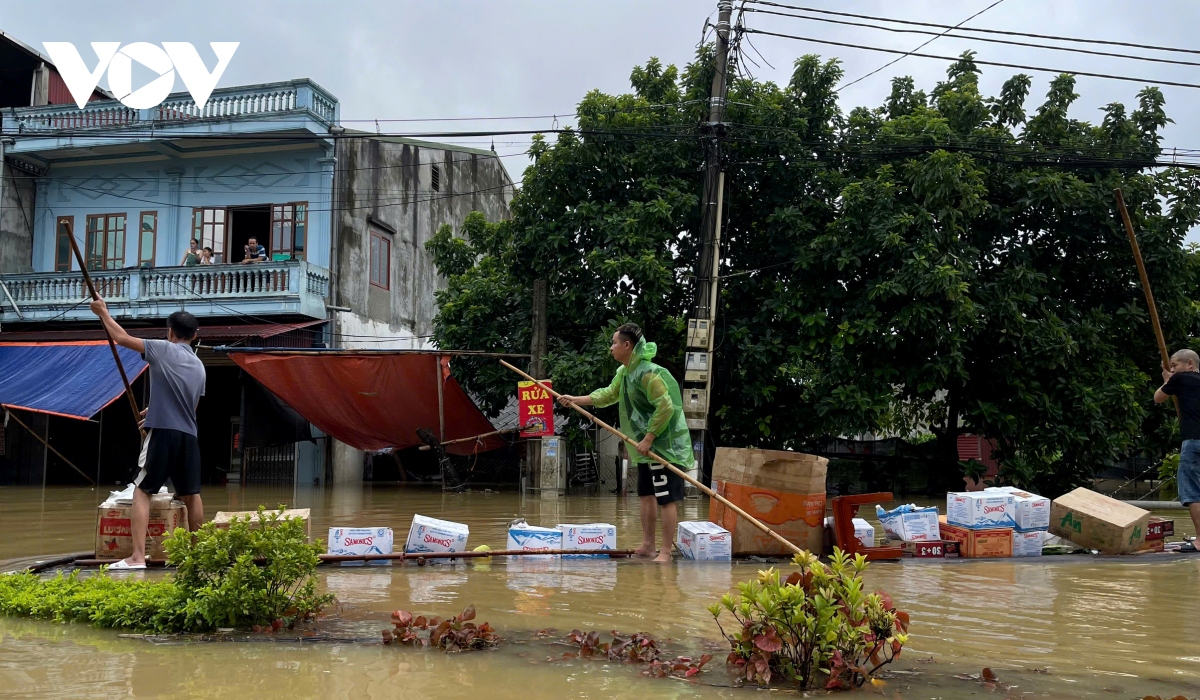
[(620, 431), (638, 441), (637, 454), (629, 455), (637, 465), (637, 495), (642, 505), (643, 540), (636, 554), (654, 556), (655, 510), (661, 509), (662, 549), (654, 561), (670, 562), (679, 522), (676, 503), (683, 501), (683, 478), (647, 455), (654, 451), (685, 472), (695, 463), (679, 383), (671, 372), (650, 361), (658, 346), (646, 342), (642, 329), (632, 323), (612, 334), (608, 351), (620, 363), (612, 383), (587, 396), (559, 396), (559, 402), (600, 408), (620, 403)]

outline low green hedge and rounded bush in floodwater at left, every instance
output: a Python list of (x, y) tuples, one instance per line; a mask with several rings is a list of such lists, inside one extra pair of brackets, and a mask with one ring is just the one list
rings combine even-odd
[(218, 627), (294, 624), (334, 600), (318, 594), (318, 545), (305, 522), (259, 507), (227, 530), (205, 523), (176, 530), (164, 542), (173, 578), (143, 581), (78, 573), (42, 579), (31, 573), (0, 576), (0, 614), (155, 633), (209, 632)]

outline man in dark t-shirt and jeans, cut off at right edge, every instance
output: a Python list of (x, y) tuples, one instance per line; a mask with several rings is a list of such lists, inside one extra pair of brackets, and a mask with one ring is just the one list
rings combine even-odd
[[(1192, 513), (1192, 522), (1200, 533), (1200, 355), (1181, 349), (1171, 355), (1171, 369), (1163, 370), (1163, 385), (1154, 391), (1162, 403), (1170, 396), (1180, 400), (1180, 471), (1175, 480), (1180, 486), (1180, 503)], [(1186, 542), (1180, 551), (1196, 551), (1195, 543)]]

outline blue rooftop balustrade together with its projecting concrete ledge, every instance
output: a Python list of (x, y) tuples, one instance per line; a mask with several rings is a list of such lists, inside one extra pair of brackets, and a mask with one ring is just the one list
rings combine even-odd
[(64, 148), (113, 146), (145, 140), (266, 132), (326, 133), (337, 124), (337, 98), (308, 79), (218, 88), (204, 107), (188, 92), (173, 92), (157, 107), (132, 109), (115, 100), (18, 107), (4, 113), (5, 151), (41, 154)]

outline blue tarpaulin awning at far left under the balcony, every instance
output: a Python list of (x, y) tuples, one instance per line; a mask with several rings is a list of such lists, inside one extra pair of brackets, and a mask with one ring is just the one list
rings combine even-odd
[[(116, 352), (131, 382), (146, 369), (138, 353)], [(0, 405), (86, 420), (124, 391), (107, 341), (0, 343)]]

